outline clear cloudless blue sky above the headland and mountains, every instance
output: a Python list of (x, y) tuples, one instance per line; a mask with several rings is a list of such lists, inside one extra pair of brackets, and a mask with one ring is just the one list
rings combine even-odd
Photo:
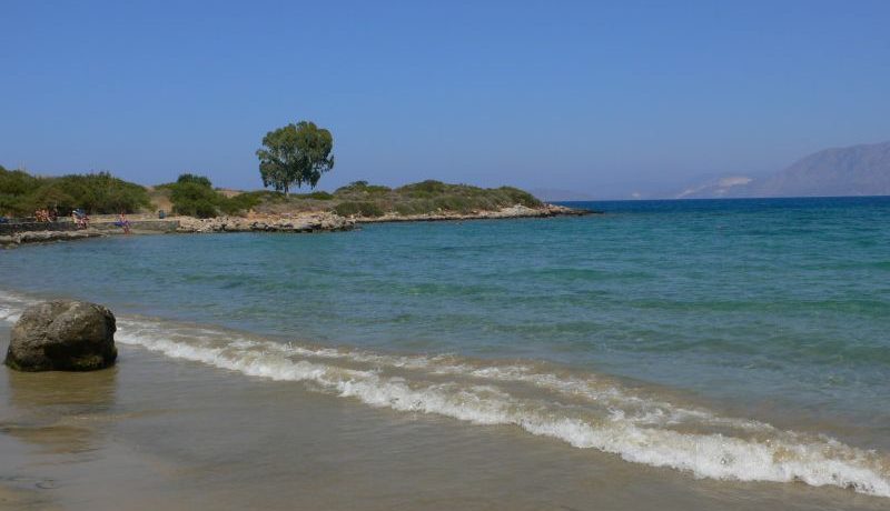
[(890, 140), (890, 1), (0, 0), (0, 164), (259, 188), (426, 178), (626, 197)]

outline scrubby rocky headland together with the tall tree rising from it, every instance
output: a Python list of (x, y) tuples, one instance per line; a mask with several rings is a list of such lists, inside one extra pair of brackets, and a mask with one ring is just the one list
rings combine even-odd
[[(334, 168), (334, 138), (309, 121), (269, 131), (256, 151), (264, 187), (215, 188), (184, 173), (142, 187), (109, 172), (32, 176), (0, 167), (0, 246), (115, 233), (319, 232), (362, 222), (540, 218), (589, 211), (547, 204), (512, 187), (478, 188), (427, 180), (389, 188), (355, 181), (315, 191)], [(308, 186), (308, 193), (291, 190)]]

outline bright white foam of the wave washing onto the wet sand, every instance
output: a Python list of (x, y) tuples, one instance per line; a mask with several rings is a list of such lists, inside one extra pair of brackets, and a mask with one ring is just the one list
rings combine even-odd
[[(680, 432), (670, 429), (670, 421), (654, 418), (641, 421), (639, 417), (631, 420), (620, 410), (602, 418), (585, 417), (576, 409), (516, 398), (495, 384), (457, 381), (431, 383), (423, 378), (411, 380), (386, 377), (377, 370), (356, 370), (294, 360), (295, 353), (301, 350), (307, 355), (310, 352), (315, 358), (342, 358), (343, 353), (336, 350), (281, 347), (253, 340), (220, 343), (217, 335), (207, 338), (199, 334), (189, 338), (182, 332), (170, 334), (165, 332), (162, 325), (148, 321), (119, 320), (118, 324), (118, 340), (121, 343), (140, 345), (168, 357), (202, 362), (248, 375), (312, 382), (314, 387), (325, 391), (374, 407), (435, 413), (474, 424), (515, 425), (532, 434), (558, 439), (576, 448), (597, 449), (631, 462), (679, 469), (699, 478), (802, 481), (814, 487), (833, 485), (890, 497), (890, 465), (886, 457), (830, 439), (780, 431), (769, 424), (759, 429), (758, 438), (716, 432)], [(363, 357), (366, 361), (374, 359), (379, 362), (379, 357), (385, 355), (366, 353)], [(404, 363), (419, 368), (424, 364), (428, 367), (431, 360), (433, 359), (406, 359)], [(497, 381), (498, 378), (505, 378), (498, 375), (502, 369), (473, 370), (482, 371), (488, 377), (495, 375), (493, 380)], [(526, 372), (518, 370), (521, 374)], [(515, 372), (510, 374), (510, 378), (517, 378)], [(568, 385), (564, 389), (566, 392), (573, 391), (573, 385), (576, 384), (571, 381), (552, 381), (545, 377), (537, 374), (532, 381), (557, 388)], [(615, 389), (616, 394), (622, 392), (621, 389)], [(704, 413), (702, 417), (705, 422), (720, 419), (711, 413)], [(770, 432), (765, 438), (764, 431)]]

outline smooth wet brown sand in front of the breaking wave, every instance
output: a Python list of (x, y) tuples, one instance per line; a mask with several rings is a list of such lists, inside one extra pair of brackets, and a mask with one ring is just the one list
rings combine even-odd
[[(6, 352), (8, 328), (0, 329)], [(887, 499), (696, 480), (119, 345), (93, 373), (0, 369), (2, 509), (851, 510)]]

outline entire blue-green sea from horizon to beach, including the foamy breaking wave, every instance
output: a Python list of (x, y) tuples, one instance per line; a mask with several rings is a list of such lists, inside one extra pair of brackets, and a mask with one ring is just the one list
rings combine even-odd
[(21, 247), (0, 315), (91, 300), (120, 342), (365, 405), (890, 495), (890, 198), (570, 206), (604, 213)]

